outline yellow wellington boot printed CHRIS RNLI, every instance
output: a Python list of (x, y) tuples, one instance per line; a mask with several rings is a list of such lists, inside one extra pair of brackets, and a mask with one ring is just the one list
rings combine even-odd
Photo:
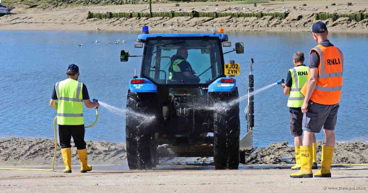
[(312, 151), (312, 146), (300, 146), (300, 170), (291, 173), (291, 178), (313, 178)]

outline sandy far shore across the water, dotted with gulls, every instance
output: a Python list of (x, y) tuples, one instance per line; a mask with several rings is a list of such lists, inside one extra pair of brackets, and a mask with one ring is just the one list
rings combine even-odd
[[(331, 6), (336, 3), (336, 6)], [(196, 11), (213, 12), (255, 12), (256, 9), (263, 7), (263, 12), (284, 12), (289, 10), (290, 14), (285, 19), (272, 18), (265, 16), (262, 18), (190, 18), (190, 17), (154, 17), (154, 18), (111, 18), (111, 19), (86, 19), (88, 11), (91, 12), (147, 12), (148, 4), (125, 4), (125, 5), (90, 5), (90, 6), (70, 6), (58, 7), (55, 9), (42, 10), (37, 7), (28, 8), (19, 5), (12, 12), (13, 15), (5, 15), (0, 19), (0, 30), (99, 30), (99, 31), (141, 31), (143, 25), (152, 25), (152, 32), (168, 31), (195, 31), (210, 32), (213, 25), (225, 28), (226, 31), (310, 31), (315, 20), (315, 13), (327, 12), (338, 14), (352, 14), (357, 12), (367, 12), (368, 2), (365, 0), (355, 0), (353, 6), (347, 7), (345, 0), (300, 0), (300, 1), (270, 1), (270, 3), (261, 3), (258, 7), (253, 4), (243, 4), (239, 1), (226, 2), (190, 2), (180, 3), (180, 8), (184, 11), (191, 11), (189, 8), (195, 8)], [(306, 4), (306, 6), (301, 6)], [(328, 8), (326, 8), (328, 6)], [(208, 8), (206, 8), (208, 7)], [(234, 9), (233, 7), (238, 7)], [(250, 7), (252, 11), (245, 11), (244, 8)], [(283, 8), (284, 7), (284, 8)], [(293, 9), (296, 7), (296, 9)], [(347, 7), (345, 9), (345, 7)], [(158, 10), (160, 9), (160, 10)], [(170, 11), (177, 10), (175, 3), (154, 3), (152, 11)], [(203, 10), (202, 10), (203, 9)], [(323, 20), (327, 23), (330, 32), (358, 32), (367, 33), (368, 19), (360, 22), (350, 21), (348, 18), (339, 18), (336, 21), (332, 19)], [(132, 29), (129, 28), (132, 26)], [(171, 29), (169, 29), (171, 26)], [(98, 29), (96, 29), (98, 28)], [(173, 29), (172, 29), (173, 28)]]

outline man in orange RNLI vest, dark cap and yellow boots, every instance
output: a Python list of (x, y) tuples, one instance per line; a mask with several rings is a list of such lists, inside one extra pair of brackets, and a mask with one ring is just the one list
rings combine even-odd
[[(318, 43), (309, 54), (309, 78), (301, 107), (303, 114), (303, 146), (300, 146), (301, 168), (291, 178), (312, 178), (312, 137), (323, 127), (326, 135), (322, 146), (321, 169), (314, 177), (331, 177), (330, 167), (335, 147), (335, 124), (343, 83), (344, 55), (327, 38), (326, 25), (318, 21), (312, 26)], [(303, 90), (303, 89), (302, 89)], [(302, 91), (303, 93), (303, 91)]]

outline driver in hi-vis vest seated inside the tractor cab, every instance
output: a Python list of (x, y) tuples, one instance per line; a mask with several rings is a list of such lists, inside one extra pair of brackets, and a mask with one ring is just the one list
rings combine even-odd
[[(172, 65), (169, 68), (169, 79), (174, 83), (183, 81), (184, 83), (199, 83), (201, 80), (194, 75), (195, 72), (192, 69), (192, 66), (187, 61), (188, 58), (188, 49), (182, 47), (176, 51), (176, 54), (171, 57), (171, 61), (173, 61)], [(196, 78), (197, 77), (197, 78)]]

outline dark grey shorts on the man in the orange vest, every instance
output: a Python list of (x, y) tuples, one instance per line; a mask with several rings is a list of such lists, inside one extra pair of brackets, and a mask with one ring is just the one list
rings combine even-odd
[(322, 127), (327, 130), (335, 130), (339, 107), (339, 104), (324, 105), (310, 100), (308, 112), (303, 115), (303, 131), (319, 133)]

